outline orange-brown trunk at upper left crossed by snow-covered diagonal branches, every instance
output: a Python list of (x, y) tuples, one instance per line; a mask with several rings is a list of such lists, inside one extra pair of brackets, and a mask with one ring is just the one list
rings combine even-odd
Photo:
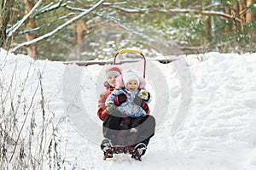
[[(32, 10), (34, 6), (34, 0), (25, 0), (25, 8), (26, 12), (25, 14), (28, 14), (29, 11)], [(31, 30), (32, 28), (36, 27), (36, 21), (34, 18), (29, 19), (27, 24), (26, 24), (26, 30)], [(35, 33), (26, 33), (26, 41), (32, 41), (33, 39), (36, 38)], [(31, 56), (33, 59), (38, 59), (38, 46), (33, 45), (32, 47), (26, 48), (27, 54)]]

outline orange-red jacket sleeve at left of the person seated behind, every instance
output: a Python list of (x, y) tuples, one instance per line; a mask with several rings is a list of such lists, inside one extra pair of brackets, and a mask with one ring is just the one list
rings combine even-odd
[(108, 112), (105, 111), (105, 102), (106, 99), (108, 98), (108, 95), (113, 92), (113, 87), (107, 86), (107, 90), (100, 95), (99, 101), (98, 101), (98, 111), (97, 111), (97, 116), (104, 121), (106, 117), (108, 116)]

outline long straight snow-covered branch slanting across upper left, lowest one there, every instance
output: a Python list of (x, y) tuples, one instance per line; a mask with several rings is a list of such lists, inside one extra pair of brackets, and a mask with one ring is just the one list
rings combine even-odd
[(93, 11), (95, 8), (97, 8), (99, 5), (101, 5), (103, 2), (104, 2), (104, 0), (99, 1), (93, 7), (89, 8), (88, 10), (86, 10), (83, 13), (79, 14), (78, 16), (74, 17), (72, 20), (68, 20), (66, 23), (62, 24), (61, 26), (58, 26), (54, 31), (50, 31), (49, 33), (44, 34), (41, 37), (35, 38), (32, 41), (20, 43), (17, 47), (13, 48), (12, 51), (16, 51), (18, 48), (21, 48), (24, 46), (29, 46), (29, 45), (32, 45), (33, 43), (40, 42), (48, 37), (52, 37), (53, 35), (55, 35), (55, 33), (57, 33), (58, 31), (61, 31), (66, 26), (69, 26), (75, 20), (79, 20), (85, 14), (89, 14), (91, 11)]

